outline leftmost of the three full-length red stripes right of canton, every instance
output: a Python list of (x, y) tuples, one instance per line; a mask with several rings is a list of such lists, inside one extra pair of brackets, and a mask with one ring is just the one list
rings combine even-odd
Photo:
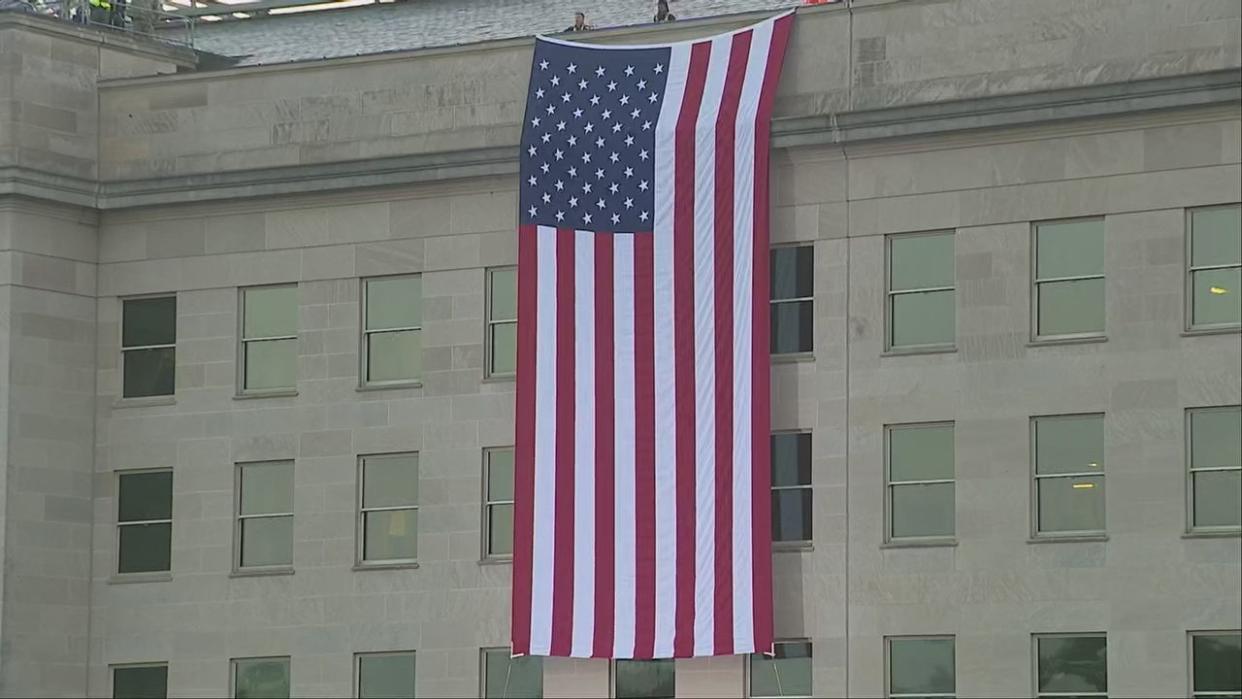
[(673, 363), (677, 454), (677, 613), (673, 654), (694, 654), (694, 123), (703, 102), (710, 42), (691, 47), (677, 117), (673, 183)]

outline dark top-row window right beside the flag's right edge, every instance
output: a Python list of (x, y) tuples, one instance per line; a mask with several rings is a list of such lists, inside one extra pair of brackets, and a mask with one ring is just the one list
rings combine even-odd
[(771, 251), (771, 353), (815, 349), (815, 247)]

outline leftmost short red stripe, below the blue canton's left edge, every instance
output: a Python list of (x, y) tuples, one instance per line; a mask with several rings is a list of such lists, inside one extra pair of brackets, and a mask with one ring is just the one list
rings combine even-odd
[(513, 471), (513, 653), (530, 653), (530, 559), (535, 493), (535, 322), (539, 309), (539, 231), (518, 227), (518, 395)]

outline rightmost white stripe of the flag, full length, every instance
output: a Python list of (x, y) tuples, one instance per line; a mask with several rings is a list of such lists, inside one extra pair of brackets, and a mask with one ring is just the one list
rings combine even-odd
[[(773, 22), (755, 27), (746, 60), (746, 76), (741, 84), (738, 119), (733, 143), (733, 652), (755, 651), (754, 628), (754, 562), (751, 541), (753, 436), (751, 411), (738, 410), (751, 405), (751, 322), (755, 298), (754, 264), (754, 168), (755, 113), (760, 88), (768, 67)], [(768, 214), (764, 212), (764, 216)], [(760, 435), (766, 440), (766, 435)], [(761, 448), (766, 444), (761, 443)]]

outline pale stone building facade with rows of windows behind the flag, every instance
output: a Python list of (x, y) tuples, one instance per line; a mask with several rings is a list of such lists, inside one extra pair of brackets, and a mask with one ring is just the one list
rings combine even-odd
[(530, 40), (195, 70), (0, 14), (0, 695), (1237, 697), (1240, 19), (800, 10), (789, 644), (510, 668)]

